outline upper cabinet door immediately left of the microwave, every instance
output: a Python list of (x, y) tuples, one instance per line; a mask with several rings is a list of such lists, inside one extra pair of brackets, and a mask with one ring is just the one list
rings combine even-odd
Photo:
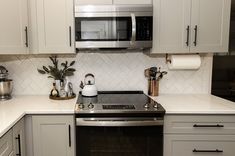
[(73, 0), (36, 0), (38, 53), (74, 53)]

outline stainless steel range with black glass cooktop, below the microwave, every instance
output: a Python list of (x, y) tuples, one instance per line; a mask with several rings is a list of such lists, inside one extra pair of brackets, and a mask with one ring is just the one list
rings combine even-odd
[(163, 156), (165, 110), (141, 91), (79, 96), (77, 156)]

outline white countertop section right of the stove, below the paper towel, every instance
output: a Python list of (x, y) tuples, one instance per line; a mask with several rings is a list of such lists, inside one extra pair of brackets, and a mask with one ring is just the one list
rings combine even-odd
[(160, 95), (152, 97), (166, 110), (166, 114), (234, 114), (235, 102), (213, 95)]

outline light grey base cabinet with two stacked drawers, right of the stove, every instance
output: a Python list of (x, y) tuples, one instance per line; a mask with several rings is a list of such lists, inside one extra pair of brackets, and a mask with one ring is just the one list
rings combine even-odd
[(234, 115), (166, 115), (164, 156), (234, 156)]

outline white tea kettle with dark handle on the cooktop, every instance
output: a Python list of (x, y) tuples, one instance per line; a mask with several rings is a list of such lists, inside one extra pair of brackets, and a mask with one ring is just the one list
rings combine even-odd
[(82, 96), (92, 97), (97, 96), (98, 91), (95, 86), (95, 76), (91, 73), (85, 75), (84, 84), (81, 82)]

